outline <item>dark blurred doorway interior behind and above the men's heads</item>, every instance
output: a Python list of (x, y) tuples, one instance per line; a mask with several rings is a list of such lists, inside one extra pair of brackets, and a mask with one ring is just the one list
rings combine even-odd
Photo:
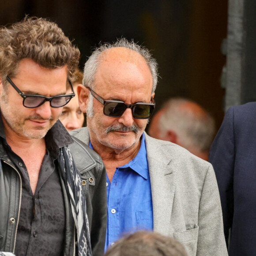
[(174, 96), (206, 108), (219, 128), (227, 0), (0, 0), (0, 25), (25, 14), (55, 21), (79, 47), (80, 67), (100, 41), (125, 37), (151, 49), (159, 64), (156, 109)]

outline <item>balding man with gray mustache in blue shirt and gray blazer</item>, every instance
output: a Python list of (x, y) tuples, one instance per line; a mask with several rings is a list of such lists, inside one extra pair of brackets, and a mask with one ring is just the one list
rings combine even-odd
[(150, 52), (124, 38), (100, 46), (85, 64), (78, 96), (87, 127), (71, 133), (106, 167), (105, 248), (121, 233), (147, 229), (174, 237), (190, 256), (226, 256), (211, 164), (144, 132), (156, 85)]

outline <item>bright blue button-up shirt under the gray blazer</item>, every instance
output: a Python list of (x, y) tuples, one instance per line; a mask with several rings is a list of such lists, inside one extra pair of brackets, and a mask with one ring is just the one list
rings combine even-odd
[(107, 177), (107, 203), (105, 249), (117, 241), (122, 233), (153, 230), (151, 184), (144, 135), (136, 157), (116, 168), (111, 183)]

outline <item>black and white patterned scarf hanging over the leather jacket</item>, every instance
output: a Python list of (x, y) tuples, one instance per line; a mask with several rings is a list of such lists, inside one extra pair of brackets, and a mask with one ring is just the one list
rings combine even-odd
[(83, 194), (81, 177), (76, 169), (69, 147), (60, 148), (59, 165), (61, 176), (69, 195), (72, 215), (77, 230), (79, 256), (92, 256), (90, 247), (90, 230), (86, 213), (86, 201)]

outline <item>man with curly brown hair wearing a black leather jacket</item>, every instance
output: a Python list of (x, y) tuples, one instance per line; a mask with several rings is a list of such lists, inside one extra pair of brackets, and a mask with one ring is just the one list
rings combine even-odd
[[(79, 55), (46, 19), (26, 17), (0, 28), (0, 255), (103, 252), (105, 167), (58, 120), (75, 96)], [(69, 146), (83, 152), (82, 162)], [(88, 176), (92, 184), (84, 186)]]

